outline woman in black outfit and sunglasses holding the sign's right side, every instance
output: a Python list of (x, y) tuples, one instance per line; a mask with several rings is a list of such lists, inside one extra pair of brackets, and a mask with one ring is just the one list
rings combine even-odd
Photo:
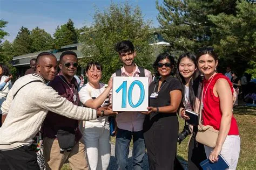
[(144, 138), (150, 169), (173, 169), (179, 122), (177, 110), (182, 98), (181, 82), (174, 78), (173, 56), (159, 54), (153, 64), (160, 76), (150, 84), (149, 107), (144, 121)]

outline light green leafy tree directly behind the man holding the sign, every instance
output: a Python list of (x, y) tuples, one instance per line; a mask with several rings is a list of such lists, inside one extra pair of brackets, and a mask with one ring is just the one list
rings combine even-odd
[(152, 38), (150, 22), (143, 21), (142, 12), (129, 4), (114, 4), (104, 12), (96, 9), (93, 25), (84, 28), (80, 37), (82, 53), (85, 56), (80, 65), (86, 66), (89, 61), (98, 61), (103, 65), (103, 82), (107, 82), (112, 73), (121, 67), (114, 45), (121, 40), (131, 40), (137, 51), (135, 62), (138, 66), (152, 69)]

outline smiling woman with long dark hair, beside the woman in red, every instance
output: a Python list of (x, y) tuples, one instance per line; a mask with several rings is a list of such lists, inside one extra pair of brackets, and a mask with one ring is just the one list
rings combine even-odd
[[(177, 66), (176, 75), (182, 82), (184, 92), (179, 115), (187, 121), (190, 117), (185, 115), (185, 109), (198, 113), (200, 105), (201, 76), (197, 68), (196, 55), (189, 52), (180, 55)], [(204, 145), (196, 141), (198, 126), (190, 125), (189, 128), (192, 137), (188, 147), (188, 169), (202, 169), (199, 164), (206, 159), (206, 155)]]

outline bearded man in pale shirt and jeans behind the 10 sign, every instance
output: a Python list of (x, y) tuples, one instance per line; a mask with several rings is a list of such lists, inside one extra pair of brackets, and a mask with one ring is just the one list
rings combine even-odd
[[(145, 68), (138, 67), (134, 63), (136, 52), (131, 41), (124, 40), (116, 45), (120, 60), (123, 62), (123, 67), (118, 69), (113, 76), (145, 76), (149, 77), (149, 84), (152, 82), (151, 72)], [(110, 94), (110, 100), (112, 95)], [(132, 169), (143, 169), (143, 157), (145, 155), (145, 143), (143, 137), (143, 122), (145, 115), (137, 111), (120, 112), (116, 116), (117, 130), (116, 131), (116, 148), (115, 155), (117, 158), (118, 169), (128, 168), (129, 145), (133, 138), (132, 150)]]

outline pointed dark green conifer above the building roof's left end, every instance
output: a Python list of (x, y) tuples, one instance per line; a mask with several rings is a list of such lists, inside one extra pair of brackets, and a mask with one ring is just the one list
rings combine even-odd
[(12, 44), (14, 47), (14, 55), (23, 55), (33, 52), (31, 32), (28, 28), (22, 26)]

